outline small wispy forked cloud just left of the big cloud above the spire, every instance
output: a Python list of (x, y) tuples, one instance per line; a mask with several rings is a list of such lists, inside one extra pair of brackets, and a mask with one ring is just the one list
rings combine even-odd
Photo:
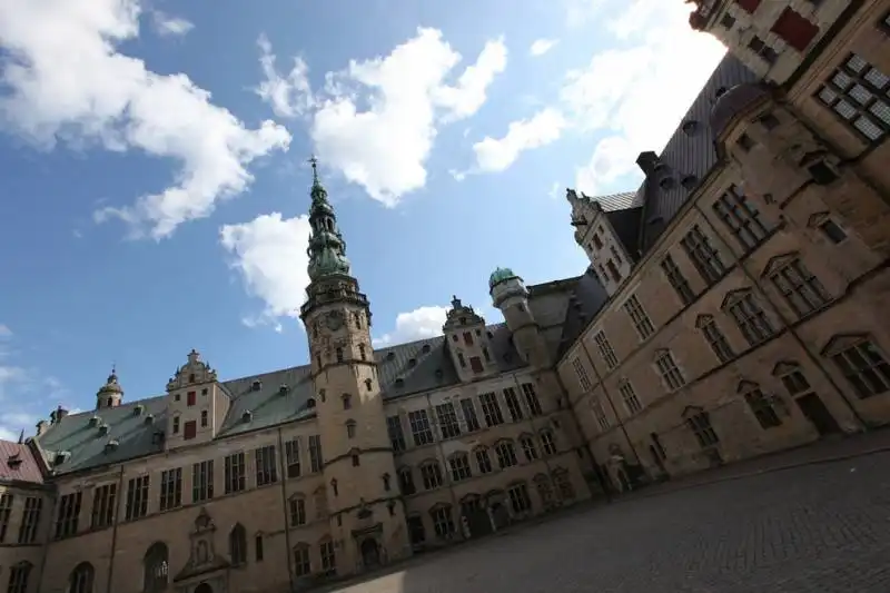
[(263, 34), (257, 40), (260, 57), (259, 65), (263, 68), (265, 80), (255, 89), (256, 93), (267, 102), (275, 115), (279, 117), (297, 117), (309, 110), (315, 98), (309, 86), (309, 67), (303, 58), (294, 58), (294, 67), (290, 71), (281, 76), (275, 69), (275, 53), (271, 52), (271, 43)]

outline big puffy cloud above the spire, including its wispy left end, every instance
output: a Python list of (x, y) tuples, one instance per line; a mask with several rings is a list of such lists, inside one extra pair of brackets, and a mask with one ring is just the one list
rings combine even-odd
[(491, 40), (453, 78), (462, 56), (441, 31), (422, 28), (388, 56), (327, 72), (324, 88), (313, 93), (304, 63), (283, 76), (269, 60), (271, 48), (260, 50), (260, 96), (276, 112), (305, 112), (325, 165), (386, 206), (426, 185), (426, 162), (438, 129), (478, 111), (507, 57), (504, 41)]

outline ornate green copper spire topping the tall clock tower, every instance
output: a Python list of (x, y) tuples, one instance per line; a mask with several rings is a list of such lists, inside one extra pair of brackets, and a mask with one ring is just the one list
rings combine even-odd
[(337, 215), (327, 201), (327, 190), (318, 179), (318, 159), (309, 159), (313, 165), (313, 187), (309, 195), (309, 224), (313, 236), (309, 238), (309, 278), (317, 280), (323, 276), (349, 275), (349, 260), (346, 259), (346, 241), (337, 228)]

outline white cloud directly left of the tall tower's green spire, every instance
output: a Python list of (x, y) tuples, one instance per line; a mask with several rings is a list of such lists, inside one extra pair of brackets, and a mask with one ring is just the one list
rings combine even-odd
[(281, 218), (278, 213), (220, 229), (220, 243), (234, 256), (233, 268), (248, 293), (266, 304), (260, 315), (244, 319), (248, 326), (275, 324), (280, 330), (278, 318), (299, 317), (309, 284), (306, 246), (310, 230), (307, 217)]

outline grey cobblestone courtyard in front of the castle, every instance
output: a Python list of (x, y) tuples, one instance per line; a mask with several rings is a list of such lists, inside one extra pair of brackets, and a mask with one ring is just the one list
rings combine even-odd
[(890, 592), (890, 453), (620, 502), (342, 593)]

